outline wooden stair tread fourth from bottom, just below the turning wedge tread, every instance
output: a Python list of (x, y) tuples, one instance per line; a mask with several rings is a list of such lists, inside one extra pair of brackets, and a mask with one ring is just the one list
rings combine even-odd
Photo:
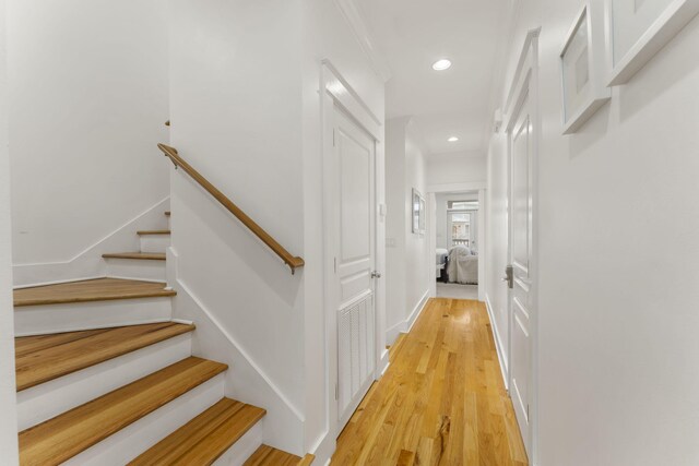
[(164, 322), (15, 338), (17, 392), (193, 330)]

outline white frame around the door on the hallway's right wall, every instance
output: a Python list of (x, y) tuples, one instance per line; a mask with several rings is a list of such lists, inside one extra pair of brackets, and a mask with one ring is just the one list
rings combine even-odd
[[(538, 100), (538, 34), (541, 28), (531, 29), (526, 34), (524, 39), (524, 46), (518, 62), (514, 79), (510, 87), (507, 99), (507, 118), (505, 121), (508, 138), (508, 263), (512, 255), (512, 144), (511, 132), (517, 123), (519, 111), (523, 104), (524, 98), (529, 95), (530, 108), (532, 115), (532, 121), (534, 123), (534, 130), (532, 132), (532, 258), (530, 263), (530, 274), (532, 276), (533, 285), (531, 287), (532, 302), (534, 303), (534, 312), (531, 320), (531, 386), (532, 386), (532, 399), (530, 405), (530, 442), (526, 446), (526, 451), (530, 455), (530, 464), (535, 465), (538, 463), (537, 440), (538, 440), (538, 154), (540, 154), (540, 138), (541, 138), (541, 113), (540, 113), (540, 100)], [(508, 370), (508, 387), (512, 386), (512, 330), (513, 318), (511, 309), (511, 297), (508, 289), (508, 361), (510, 370)]]

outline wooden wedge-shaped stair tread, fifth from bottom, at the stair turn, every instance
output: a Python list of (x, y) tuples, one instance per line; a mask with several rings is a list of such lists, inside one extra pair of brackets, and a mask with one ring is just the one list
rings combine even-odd
[(171, 289), (165, 289), (165, 284), (163, 283), (96, 278), (15, 289), (14, 306), (62, 304), (114, 299), (158, 298), (175, 295), (177, 292)]

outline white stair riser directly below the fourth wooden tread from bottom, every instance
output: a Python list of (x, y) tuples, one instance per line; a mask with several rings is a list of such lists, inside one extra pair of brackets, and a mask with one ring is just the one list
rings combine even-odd
[(191, 356), (191, 333), (17, 393), (22, 431)]

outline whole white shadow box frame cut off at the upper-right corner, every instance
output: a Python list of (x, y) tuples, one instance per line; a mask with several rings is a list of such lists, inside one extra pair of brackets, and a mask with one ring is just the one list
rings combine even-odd
[(608, 86), (626, 84), (699, 13), (699, 0), (605, 0)]

